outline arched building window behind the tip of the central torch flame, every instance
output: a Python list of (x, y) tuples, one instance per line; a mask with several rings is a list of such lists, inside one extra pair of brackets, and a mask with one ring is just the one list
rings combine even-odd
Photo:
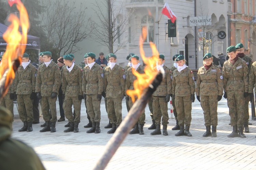
[(145, 15), (141, 19), (141, 33), (143, 30), (146, 31), (147, 36), (144, 40), (144, 43), (154, 42), (154, 18), (148, 15)]

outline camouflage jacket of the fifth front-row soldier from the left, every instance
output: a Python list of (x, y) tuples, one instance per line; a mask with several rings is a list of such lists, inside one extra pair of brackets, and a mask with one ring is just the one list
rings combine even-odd
[(104, 91), (106, 97), (121, 97), (125, 94), (126, 75), (122, 66), (115, 65), (111, 70), (107, 66), (104, 71)]

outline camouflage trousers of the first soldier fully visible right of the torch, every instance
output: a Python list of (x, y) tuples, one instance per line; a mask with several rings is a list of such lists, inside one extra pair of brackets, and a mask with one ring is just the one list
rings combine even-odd
[(191, 110), (192, 101), (190, 95), (187, 96), (175, 96), (175, 106), (177, 110), (177, 119), (180, 126), (190, 126), (191, 123)]

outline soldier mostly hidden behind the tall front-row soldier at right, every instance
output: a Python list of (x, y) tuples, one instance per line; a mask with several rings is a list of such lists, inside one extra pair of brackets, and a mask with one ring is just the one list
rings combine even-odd
[[(253, 60), (251, 57), (247, 56), (244, 54), (244, 46), (242, 43), (238, 43), (236, 45), (237, 49), (237, 56), (243, 59), (246, 62), (247, 67), (249, 68), (248, 72), (250, 73)], [(249, 74), (248, 73), (248, 74)], [(248, 126), (248, 121), (249, 121), (249, 102), (250, 102), (250, 96), (247, 96), (244, 98), (245, 99), (245, 105), (244, 105), (244, 133), (249, 133), (249, 126)]]

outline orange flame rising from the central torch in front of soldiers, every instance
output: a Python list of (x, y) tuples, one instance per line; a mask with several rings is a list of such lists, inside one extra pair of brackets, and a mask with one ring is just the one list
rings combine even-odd
[(142, 57), (142, 60), (146, 64), (144, 68), (144, 74), (138, 73), (134, 68), (132, 68), (132, 73), (137, 77), (136, 80), (133, 82), (134, 90), (127, 90), (126, 93), (129, 95), (132, 99), (132, 102), (134, 103), (136, 101), (136, 98), (140, 98), (144, 89), (146, 89), (151, 82), (154, 80), (158, 72), (153, 71), (154, 67), (156, 65), (156, 60), (159, 59), (159, 52), (156, 48), (156, 45), (152, 42), (150, 42), (150, 46), (152, 49), (152, 57), (145, 57), (145, 52), (143, 49), (143, 42), (145, 41), (147, 37), (147, 30), (145, 27), (142, 28), (142, 35), (140, 36), (140, 55)]

